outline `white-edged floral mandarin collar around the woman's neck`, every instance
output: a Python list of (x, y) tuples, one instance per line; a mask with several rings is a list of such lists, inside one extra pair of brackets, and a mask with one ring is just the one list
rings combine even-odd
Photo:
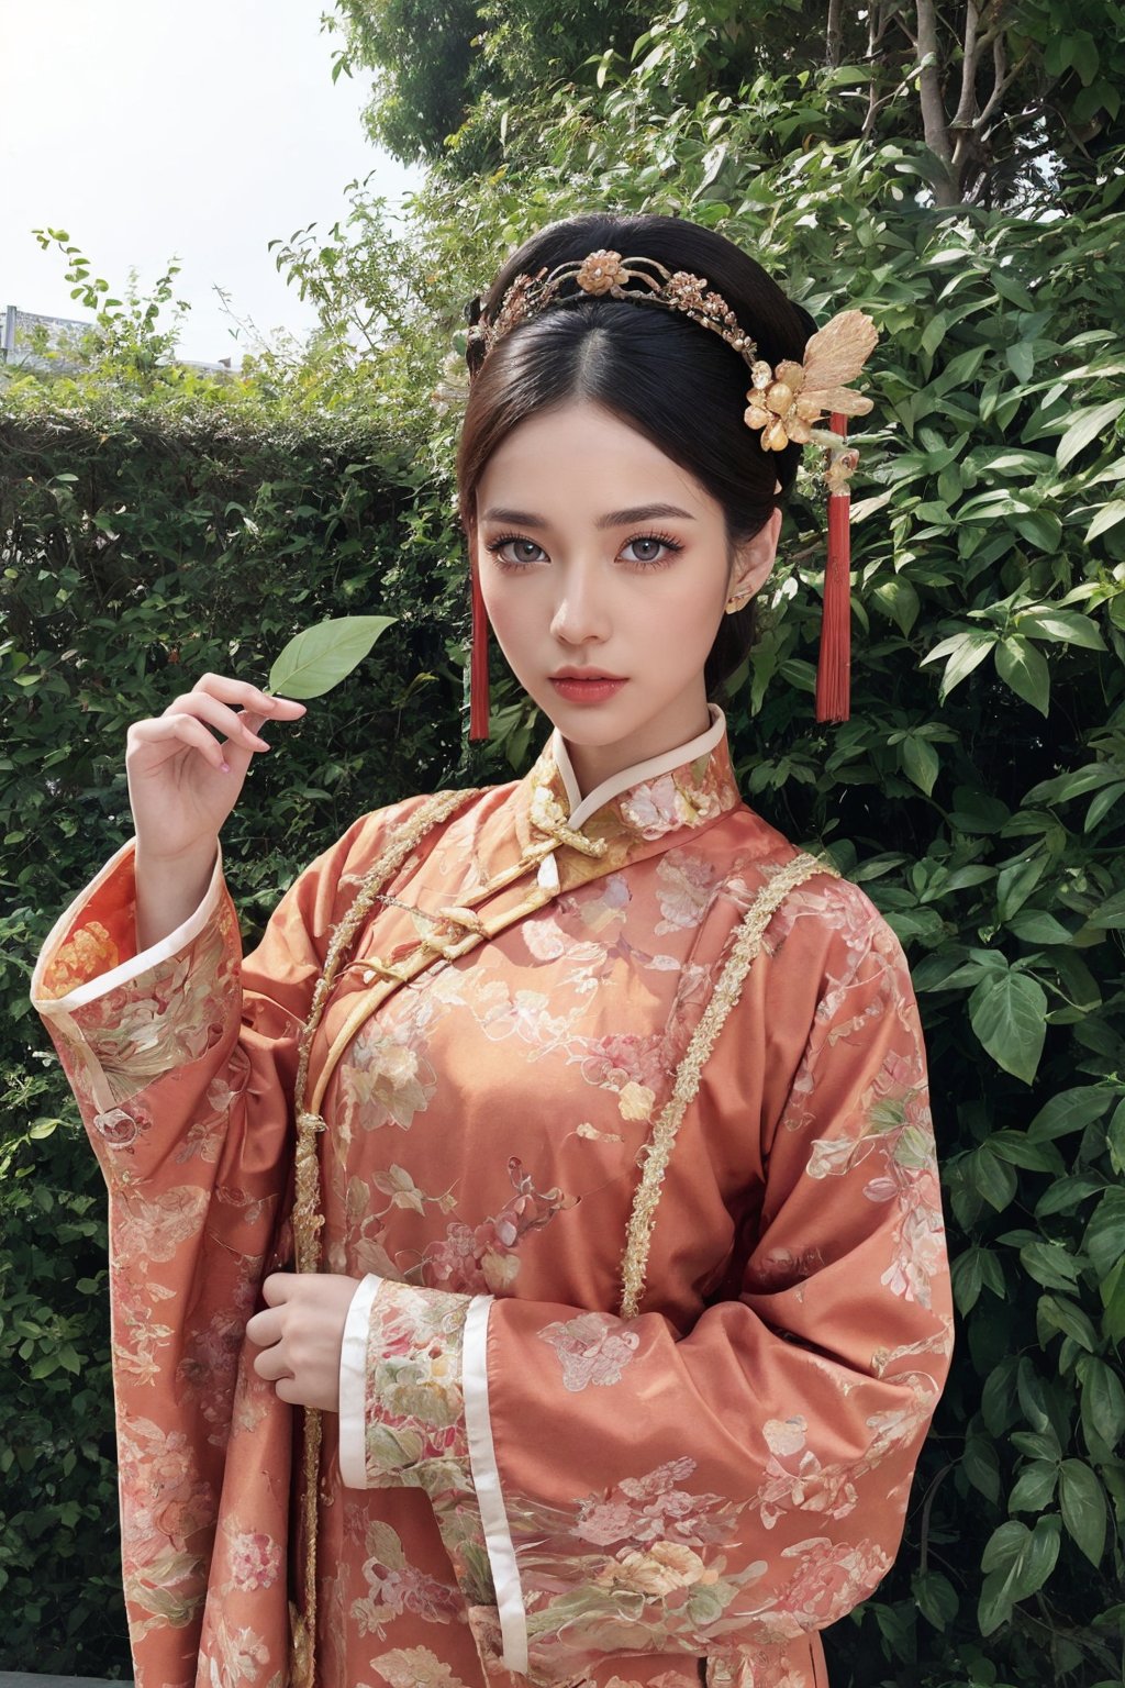
[(567, 744), (555, 729), (519, 782), (518, 809), (533, 832), (560, 825), (590, 841), (654, 842), (717, 820), (742, 802), (730, 765), (727, 717), (707, 706), (710, 726), (675, 749), (602, 780), (582, 797)]

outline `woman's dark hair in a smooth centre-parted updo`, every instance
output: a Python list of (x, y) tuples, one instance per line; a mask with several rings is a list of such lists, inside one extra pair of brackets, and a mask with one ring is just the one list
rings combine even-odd
[[(648, 214), (589, 213), (548, 225), (508, 258), (489, 290), (466, 307), (466, 317), (471, 324), (481, 316), (491, 321), (519, 272), (582, 262), (599, 248), (705, 277), (772, 366), (783, 358), (799, 363), (816, 331), (808, 311), (724, 235), (683, 218)], [(761, 434), (742, 420), (751, 385), (746, 361), (680, 311), (590, 297), (567, 282), (558, 299), (504, 334), (487, 356), (471, 341), (467, 361), (471, 387), (457, 451), (466, 533), (476, 523), (477, 483), (496, 447), (526, 417), (579, 400), (600, 405), (695, 476), (722, 505), (730, 547), (759, 533), (793, 490), (801, 447), (762, 451)], [(722, 694), (754, 636), (751, 598), (722, 616), (703, 668), (708, 697)]]

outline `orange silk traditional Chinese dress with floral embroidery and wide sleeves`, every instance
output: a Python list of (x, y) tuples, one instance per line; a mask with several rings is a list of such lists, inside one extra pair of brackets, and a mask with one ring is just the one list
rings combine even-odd
[(126, 846), (35, 969), (110, 1187), (137, 1683), (290, 1680), (300, 1413), (243, 1330), (293, 1261), (314, 987), (391, 861), (299, 1104), (324, 1268), (363, 1280), (324, 1415), (319, 1688), (823, 1685), (951, 1340), (902, 950), (740, 800), (713, 707), (585, 798), (555, 734), (423, 810), (358, 820), (245, 960), (218, 866), (137, 954)]

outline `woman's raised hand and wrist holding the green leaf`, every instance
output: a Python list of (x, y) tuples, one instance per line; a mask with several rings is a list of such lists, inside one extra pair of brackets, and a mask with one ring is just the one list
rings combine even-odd
[(199, 906), (219, 827), (253, 756), (270, 746), (265, 721), (297, 721), (305, 706), (246, 680), (204, 674), (162, 716), (128, 729), (125, 768), (137, 829), (137, 935), (142, 949)]

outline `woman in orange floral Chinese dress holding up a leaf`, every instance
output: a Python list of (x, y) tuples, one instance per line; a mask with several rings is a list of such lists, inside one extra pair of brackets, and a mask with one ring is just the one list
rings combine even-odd
[(474, 714), (487, 613), (535, 768), (361, 817), (240, 962), (218, 832), (304, 709), (204, 675), (35, 974), (111, 1192), (137, 1681), (811, 1688), (951, 1330), (901, 947), (708, 702), (811, 324), (649, 216), (474, 314)]

